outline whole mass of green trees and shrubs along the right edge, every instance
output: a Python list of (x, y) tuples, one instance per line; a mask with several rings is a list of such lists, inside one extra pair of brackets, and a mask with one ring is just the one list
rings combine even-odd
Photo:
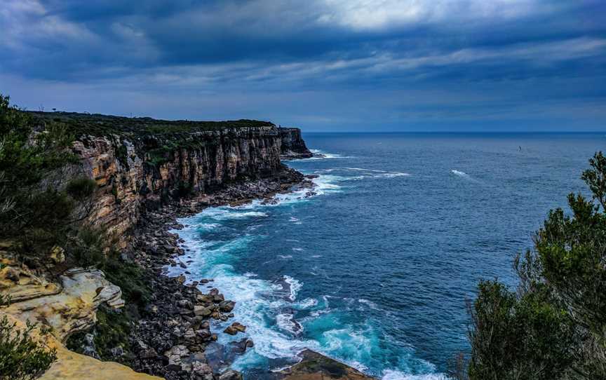
[(589, 163), (593, 199), (570, 194), (572, 215), (549, 212), (516, 259), (518, 292), (480, 283), (470, 379), (606, 379), (606, 158)]

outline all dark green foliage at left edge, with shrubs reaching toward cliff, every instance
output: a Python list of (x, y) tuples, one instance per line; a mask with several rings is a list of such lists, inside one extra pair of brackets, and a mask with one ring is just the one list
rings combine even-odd
[(81, 223), (97, 184), (86, 177), (66, 183), (62, 173), (77, 162), (73, 141), (64, 123), (38, 121), (0, 95), (0, 238), (15, 240), (29, 265), (55, 245), (76, 264), (100, 262), (101, 233)]

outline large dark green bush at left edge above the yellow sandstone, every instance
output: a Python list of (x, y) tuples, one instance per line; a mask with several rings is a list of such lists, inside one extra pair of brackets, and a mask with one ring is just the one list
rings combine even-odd
[(76, 162), (64, 125), (36, 125), (0, 95), (0, 238), (24, 255), (41, 256), (65, 242), (76, 200), (57, 189), (60, 169)]

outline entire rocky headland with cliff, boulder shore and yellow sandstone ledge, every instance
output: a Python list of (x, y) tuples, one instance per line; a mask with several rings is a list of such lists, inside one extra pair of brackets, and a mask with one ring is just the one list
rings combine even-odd
[[(60, 247), (51, 255), (52, 268), (30, 270), (11, 257), (10, 243), (6, 243), (0, 251), (0, 292), (10, 295), (12, 302), (0, 312), (17, 323), (27, 320), (38, 323), (38, 330), (50, 330), (40, 339), (58, 349), (58, 360), (43, 378), (144, 379), (147, 375), (137, 374), (144, 372), (150, 379), (241, 379), (229, 363), (253, 347), (254, 341), (245, 337), (246, 327), (231, 313), (234, 302), (212, 287), (212, 279), (165, 275), (167, 266), (187, 269), (180, 259), (184, 254), (180, 239), (170, 230), (180, 228), (177, 217), (210, 206), (259, 198), (271, 202), (276, 194), (292, 189), (305, 188), (307, 196), (313, 194), (309, 178), (281, 163), (281, 159), (312, 156), (300, 130), (262, 121), (155, 121), (68, 113), (34, 116), (39, 123), (65, 123), (76, 135), (73, 151), (79, 160), (65, 168), (62, 177), (85, 175), (95, 180), (93, 202), (81, 212), (121, 247), (122, 264), (116, 265), (132, 268), (133, 278), (138, 276), (140, 281), (131, 286), (128, 281), (133, 278), (116, 277), (128, 277), (128, 272), (116, 275), (111, 268), (106, 273), (69, 268)], [(108, 278), (129, 285), (121, 289)], [(229, 319), (234, 322), (227, 329), (213, 331), (213, 320)], [(221, 347), (215, 343), (217, 334), (241, 334), (242, 339)], [(116, 346), (100, 349), (95, 342)], [(311, 351), (302, 354), (302, 360), (309, 365), (268, 371), (264, 378), (363, 376)], [(323, 365), (314, 367), (318, 360)]]

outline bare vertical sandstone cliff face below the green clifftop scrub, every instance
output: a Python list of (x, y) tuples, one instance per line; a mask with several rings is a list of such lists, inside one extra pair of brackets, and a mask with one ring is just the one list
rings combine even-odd
[(74, 151), (82, 158), (83, 174), (99, 186), (90, 220), (116, 236), (123, 236), (144, 208), (270, 177), (283, 170), (284, 154), (309, 153), (300, 130), (274, 126), (184, 133), (178, 143), (161, 136), (84, 136)]

